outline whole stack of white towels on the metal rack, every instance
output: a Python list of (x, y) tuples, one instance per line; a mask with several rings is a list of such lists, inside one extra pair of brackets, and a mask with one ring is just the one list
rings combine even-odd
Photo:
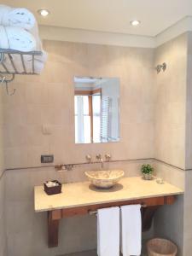
[[(21, 52), (43, 51), (41, 40), (38, 35), (37, 21), (27, 9), (10, 8), (0, 4), (0, 48), (15, 49)], [(32, 72), (32, 55), (23, 55), (26, 72)], [(20, 55), (12, 55), (16, 63), (16, 69), (22, 73), (23, 65)], [(47, 54), (36, 55), (34, 59), (35, 73), (41, 73), (44, 63), (47, 61)], [(9, 58), (5, 60), (6, 67), (12, 71)]]

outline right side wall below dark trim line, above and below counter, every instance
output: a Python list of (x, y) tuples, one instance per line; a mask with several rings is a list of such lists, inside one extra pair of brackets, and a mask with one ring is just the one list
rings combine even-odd
[[(185, 172), (173, 166), (168, 166), (158, 161), (154, 164), (158, 177), (162, 177), (169, 183), (185, 189)], [(174, 241), (178, 247), (178, 256), (183, 254), (183, 195), (177, 196), (177, 200), (171, 206), (160, 207), (154, 216), (154, 236), (165, 237)]]

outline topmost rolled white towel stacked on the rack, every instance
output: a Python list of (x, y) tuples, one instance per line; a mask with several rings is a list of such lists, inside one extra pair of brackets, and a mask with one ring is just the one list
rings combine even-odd
[(35, 22), (35, 17), (29, 10), (0, 4), (0, 25), (18, 26), (30, 30)]

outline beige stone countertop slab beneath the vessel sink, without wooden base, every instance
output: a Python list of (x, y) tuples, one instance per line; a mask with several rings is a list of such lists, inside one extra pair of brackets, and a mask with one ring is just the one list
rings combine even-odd
[(164, 195), (180, 195), (183, 190), (170, 183), (159, 184), (142, 177), (124, 177), (112, 189), (96, 189), (90, 182), (65, 183), (62, 193), (47, 195), (43, 186), (34, 188), (35, 212), (82, 207), (113, 201), (128, 201)]

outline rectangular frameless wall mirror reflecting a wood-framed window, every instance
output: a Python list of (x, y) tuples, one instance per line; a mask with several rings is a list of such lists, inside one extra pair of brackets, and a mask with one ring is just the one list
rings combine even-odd
[(119, 79), (74, 77), (75, 143), (119, 142)]

